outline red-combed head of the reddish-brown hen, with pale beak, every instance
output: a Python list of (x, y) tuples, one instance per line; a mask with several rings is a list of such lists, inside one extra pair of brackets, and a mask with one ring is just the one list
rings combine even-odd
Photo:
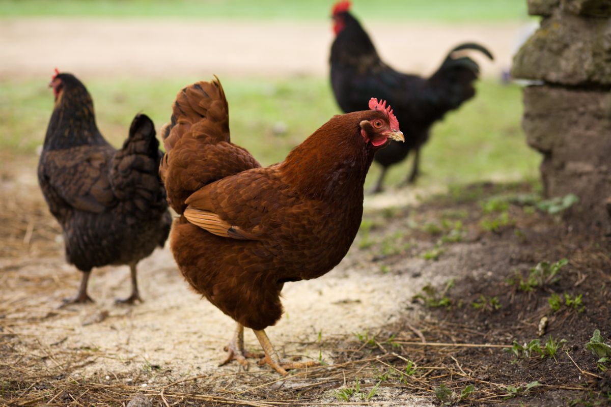
[(374, 148), (386, 145), (386, 142), (395, 140), (404, 142), (403, 132), (399, 130), (399, 121), (393, 115), (392, 109), (386, 106), (386, 101), (378, 101), (371, 98), (369, 101), (368, 114), (365, 120), (361, 120), (360, 135), (363, 136), (365, 143), (371, 143)]

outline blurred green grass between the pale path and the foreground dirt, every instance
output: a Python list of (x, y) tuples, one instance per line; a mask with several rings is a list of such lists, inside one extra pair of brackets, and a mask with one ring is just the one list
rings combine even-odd
[[(120, 146), (137, 112), (156, 127), (169, 120), (178, 90), (194, 77), (83, 79), (93, 96), (98, 126)], [(323, 77), (244, 79), (222, 77), (229, 100), (232, 141), (249, 149), (263, 165), (283, 160), (293, 146), (340, 113)], [(53, 95), (45, 82), (0, 82), (0, 148), (5, 154), (32, 155), (45, 137)], [(420, 185), (472, 182), (490, 178), (535, 177), (539, 155), (520, 128), (521, 89), (484, 81), (478, 95), (434, 126), (422, 153)], [(285, 128), (285, 131), (277, 131)], [(393, 167), (387, 184), (397, 184), (411, 162)], [(379, 173), (374, 164), (367, 187)]]

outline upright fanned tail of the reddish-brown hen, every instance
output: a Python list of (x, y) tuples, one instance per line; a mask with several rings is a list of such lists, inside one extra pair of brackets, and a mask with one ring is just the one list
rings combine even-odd
[(260, 167), (246, 149), (230, 142), (229, 107), (216, 76), (178, 92), (170, 123), (161, 133), (166, 154), (159, 175), (170, 206), (179, 214), (186, 198), (203, 185)]

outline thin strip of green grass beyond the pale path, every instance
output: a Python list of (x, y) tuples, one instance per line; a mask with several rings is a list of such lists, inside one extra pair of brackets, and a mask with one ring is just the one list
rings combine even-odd
[[(326, 20), (335, 0), (0, 0), (0, 16), (95, 16), (112, 18), (235, 18)], [(365, 20), (510, 21), (526, 18), (525, 0), (354, 0)]]

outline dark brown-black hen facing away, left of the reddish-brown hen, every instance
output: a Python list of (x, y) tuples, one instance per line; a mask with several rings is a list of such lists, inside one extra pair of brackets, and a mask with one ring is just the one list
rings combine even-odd
[(156, 246), (163, 247), (171, 223), (158, 176), (162, 153), (155, 126), (147, 116), (136, 115), (117, 150), (98, 131), (93, 101), (81, 81), (56, 73), (49, 86), (55, 107), (38, 182), (62, 226), (66, 258), (83, 272), (79, 292), (69, 302), (91, 301), (91, 269), (108, 264), (130, 266), (132, 293), (122, 301), (141, 300), (136, 264)]

